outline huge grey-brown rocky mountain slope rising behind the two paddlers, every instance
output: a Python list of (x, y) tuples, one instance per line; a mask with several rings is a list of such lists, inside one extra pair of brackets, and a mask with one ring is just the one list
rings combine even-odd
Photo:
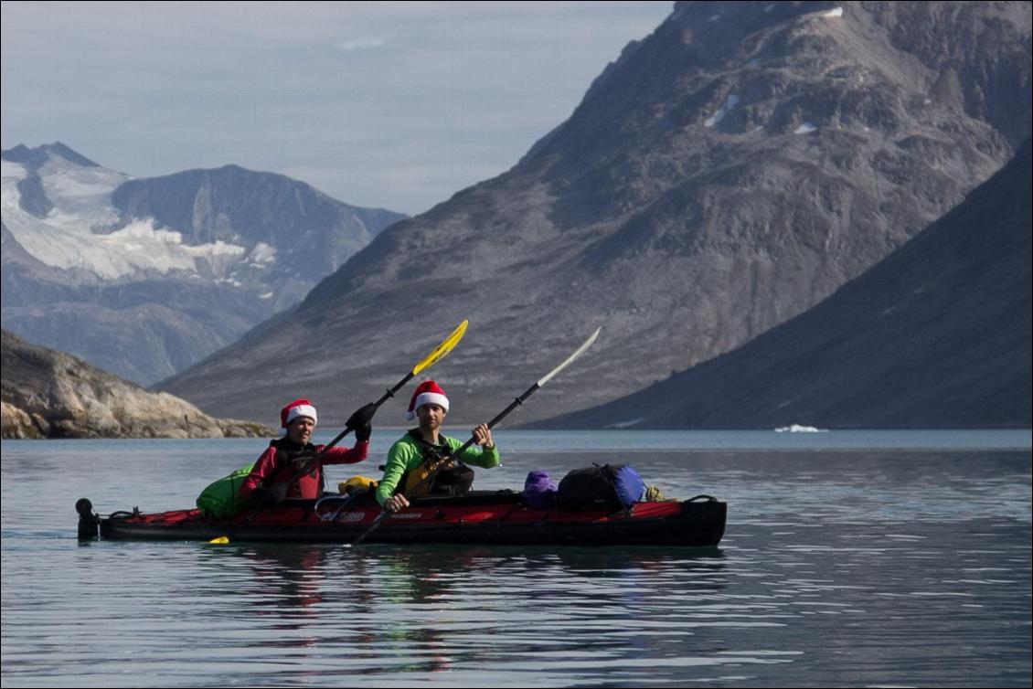
[(512, 169), (164, 388), (258, 417), (289, 380), (346, 414), (468, 317), (431, 372), (451, 422), (599, 325), (510, 422), (643, 389), (818, 304), (1007, 162), (1030, 134), (1030, 21), (1029, 3), (678, 3)]

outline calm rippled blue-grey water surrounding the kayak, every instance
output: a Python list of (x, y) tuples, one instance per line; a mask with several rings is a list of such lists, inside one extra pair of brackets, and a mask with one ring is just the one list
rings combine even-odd
[(630, 462), (728, 502), (703, 551), (80, 544), (77, 498), (192, 505), (263, 442), (4, 442), (3, 686), (1029, 686), (1030, 437), (512, 431), (478, 471)]

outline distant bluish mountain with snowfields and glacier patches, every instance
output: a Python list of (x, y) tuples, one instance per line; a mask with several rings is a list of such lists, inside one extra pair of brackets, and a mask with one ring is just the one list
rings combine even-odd
[(234, 165), (134, 180), (60, 143), (2, 164), (3, 326), (146, 384), (296, 304), (405, 217)]

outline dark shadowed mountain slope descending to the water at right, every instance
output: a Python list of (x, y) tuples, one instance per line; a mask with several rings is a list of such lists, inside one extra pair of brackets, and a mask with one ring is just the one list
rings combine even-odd
[(963, 203), (743, 347), (543, 428), (1030, 428), (1029, 140)]

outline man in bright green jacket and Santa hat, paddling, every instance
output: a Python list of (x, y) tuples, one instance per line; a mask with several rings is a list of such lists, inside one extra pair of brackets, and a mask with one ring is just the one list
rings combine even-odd
[[(448, 398), (433, 380), (420, 383), (409, 402), (408, 418), (419, 419), (419, 427), (398, 439), (387, 451), (384, 475), (377, 487), (377, 502), (384, 509), (397, 512), (409, 506), (404, 494), (418, 490), (419, 495), (461, 493), (469, 490), (473, 471), (462, 464), (441, 470), (431, 481), (420, 482), (428, 475), (428, 463), (463, 445), (462, 440), (445, 437), (440, 433), (441, 424), (448, 413)], [(460, 462), (490, 469), (499, 466), (499, 450), (492, 440), (487, 424), (473, 429), (473, 439), (480, 445), (470, 447), (460, 457)], [(465, 483), (465, 484), (464, 484)], [(418, 487), (418, 489), (417, 489)]]

